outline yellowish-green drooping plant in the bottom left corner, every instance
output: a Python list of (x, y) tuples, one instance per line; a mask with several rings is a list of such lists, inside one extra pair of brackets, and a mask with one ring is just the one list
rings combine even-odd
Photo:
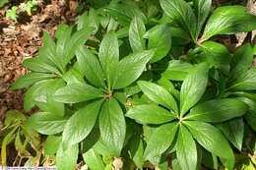
[[(13, 165), (21, 165), (27, 158), (27, 164), (38, 166), (40, 160), (40, 137), (27, 124), (28, 117), (18, 111), (8, 111), (4, 119), (4, 127), (0, 131), (1, 165), (7, 165), (8, 145), (14, 143), (17, 156)], [(13, 148), (9, 148), (12, 150)], [(10, 152), (10, 151), (9, 151)]]

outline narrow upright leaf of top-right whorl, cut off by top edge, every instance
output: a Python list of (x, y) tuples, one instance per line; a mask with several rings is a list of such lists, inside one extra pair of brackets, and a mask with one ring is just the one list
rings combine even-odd
[(193, 0), (193, 4), (197, 17), (197, 32), (199, 33), (211, 11), (212, 0)]

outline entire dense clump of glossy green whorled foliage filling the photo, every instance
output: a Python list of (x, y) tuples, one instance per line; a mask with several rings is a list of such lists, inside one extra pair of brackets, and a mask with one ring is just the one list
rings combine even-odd
[(234, 155), (256, 125), (255, 47), (231, 53), (215, 38), (255, 29), (256, 17), (211, 4), (113, 0), (44, 33), (12, 88), (28, 87), (25, 109), (40, 109), (29, 125), (58, 169), (79, 154), (93, 170), (118, 157), (123, 169), (241, 166)]

